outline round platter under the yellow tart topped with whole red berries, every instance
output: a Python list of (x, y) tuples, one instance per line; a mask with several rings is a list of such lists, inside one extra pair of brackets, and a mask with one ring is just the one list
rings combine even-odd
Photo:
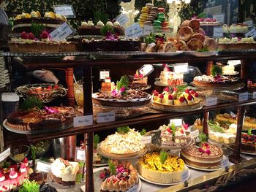
[(159, 104), (152, 102), (152, 108), (155, 110), (166, 111), (166, 112), (187, 112), (187, 111), (196, 111), (203, 108), (203, 105), (199, 102), (193, 105), (185, 105), (185, 106), (173, 106), (166, 104)]

